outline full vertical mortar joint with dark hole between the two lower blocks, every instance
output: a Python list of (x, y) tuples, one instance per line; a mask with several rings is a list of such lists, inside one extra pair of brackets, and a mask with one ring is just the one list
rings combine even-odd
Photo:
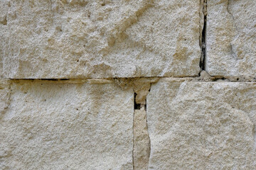
[[(151, 142), (146, 119), (146, 96), (151, 89), (151, 82), (134, 82), (134, 120), (132, 162), (134, 170), (148, 169)], [(147, 93), (145, 92), (147, 91)], [(139, 96), (139, 97), (138, 97)], [(143, 98), (143, 100), (142, 100)]]

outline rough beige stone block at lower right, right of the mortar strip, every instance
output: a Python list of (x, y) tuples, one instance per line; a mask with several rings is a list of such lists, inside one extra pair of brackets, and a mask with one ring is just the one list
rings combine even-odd
[(255, 83), (152, 85), (149, 169), (255, 169), (255, 100)]

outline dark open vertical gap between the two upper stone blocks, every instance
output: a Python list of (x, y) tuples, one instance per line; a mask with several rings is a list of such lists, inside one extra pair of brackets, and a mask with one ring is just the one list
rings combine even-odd
[(203, 1), (203, 30), (201, 38), (201, 59), (200, 68), (206, 70), (206, 24), (207, 24), (207, 0)]

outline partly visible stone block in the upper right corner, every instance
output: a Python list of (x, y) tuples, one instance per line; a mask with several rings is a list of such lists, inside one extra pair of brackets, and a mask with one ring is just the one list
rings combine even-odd
[(206, 71), (211, 76), (256, 76), (256, 3), (208, 0)]

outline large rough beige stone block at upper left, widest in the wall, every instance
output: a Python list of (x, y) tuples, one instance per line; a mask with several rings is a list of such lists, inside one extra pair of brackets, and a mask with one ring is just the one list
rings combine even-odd
[(0, 67), (18, 79), (200, 71), (200, 1), (1, 1)]

